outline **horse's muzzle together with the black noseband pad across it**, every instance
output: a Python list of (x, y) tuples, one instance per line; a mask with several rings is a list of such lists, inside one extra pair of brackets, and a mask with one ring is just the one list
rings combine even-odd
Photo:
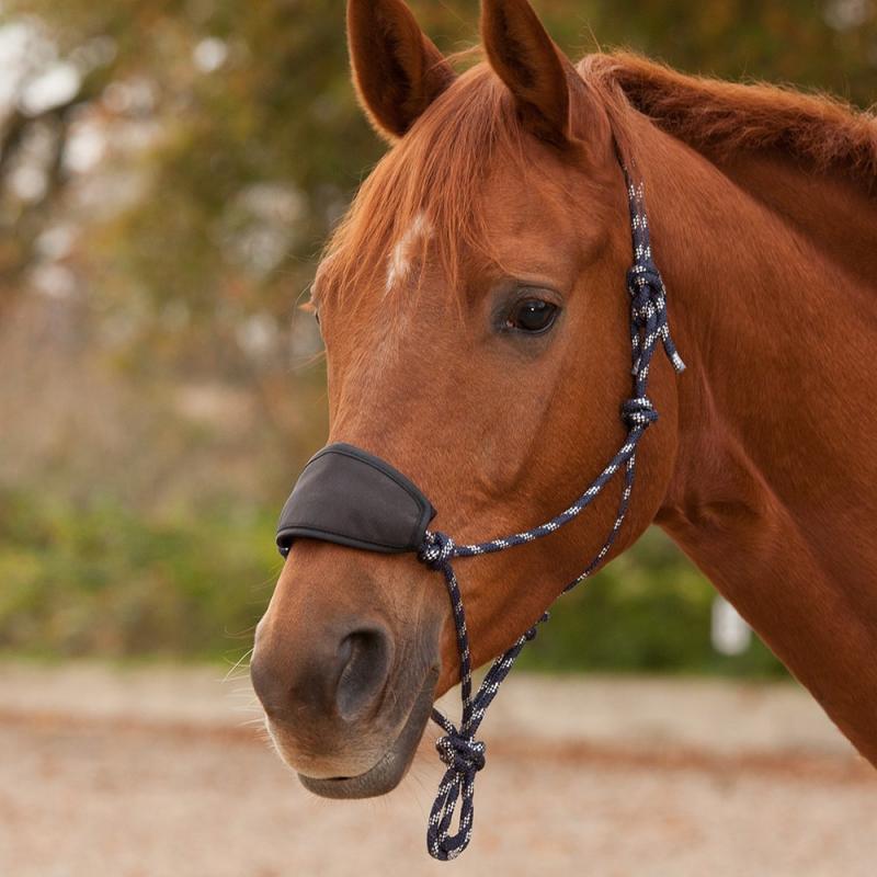
[(251, 677), (281, 756), (318, 795), (384, 794), (413, 758), (446, 603), (411, 586), (420, 565), (380, 555), (415, 551), (434, 514), (389, 464), (344, 444), (308, 463), (284, 506), (277, 545), (288, 558), (257, 630)]

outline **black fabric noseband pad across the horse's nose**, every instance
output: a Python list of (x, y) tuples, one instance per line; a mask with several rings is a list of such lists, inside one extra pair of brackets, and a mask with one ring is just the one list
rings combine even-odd
[(277, 524), (285, 557), (298, 537), (383, 554), (417, 551), (435, 510), (380, 457), (337, 442), (312, 456)]

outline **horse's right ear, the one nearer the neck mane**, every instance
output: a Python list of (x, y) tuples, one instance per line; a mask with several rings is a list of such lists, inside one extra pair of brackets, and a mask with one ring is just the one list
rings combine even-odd
[(481, 42), (524, 124), (537, 137), (568, 141), (569, 82), (578, 73), (527, 0), (482, 0)]

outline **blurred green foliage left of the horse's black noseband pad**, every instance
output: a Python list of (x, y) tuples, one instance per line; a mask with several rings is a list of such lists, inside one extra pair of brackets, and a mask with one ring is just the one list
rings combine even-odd
[(239, 656), (280, 568), (275, 513), (136, 514), (111, 500), (0, 496), (0, 649), (56, 657)]

